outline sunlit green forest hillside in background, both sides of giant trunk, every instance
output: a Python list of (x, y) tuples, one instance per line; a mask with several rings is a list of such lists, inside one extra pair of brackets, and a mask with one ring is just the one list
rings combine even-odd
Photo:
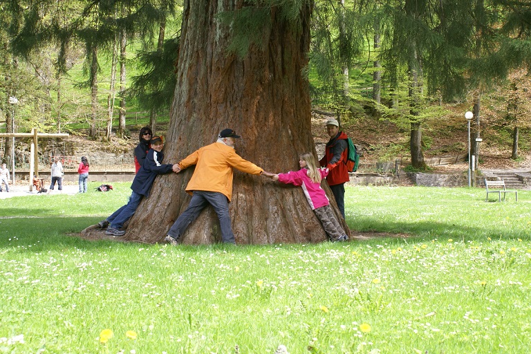
[[(285, 1), (249, 1), (220, 12), (220, 21), (233, 25), (227, 53), (243, 57), (249, 46), (261, 46), (250, 29), (267, 21), (274, 6), (289, 8)], [(15, 113), (15, 131), (39, 127), (134, 141), (129, 130), (136, 125), (128, 128), (126, 117), (138, 111), (147, 112), (140, 124), (165, 129), (180, 1), (1, 7), (3, 131), (12, 131)], [(528, 1), (314, 1), (310, 62), (301, 75), (316, 109), (335, 115), (375, 158), (408, 153), (422, 169), (425, 153), (463, 151), (465, 140), (447, 137), (466, 133), (463, 115), (470, 110), (474, 135), (489, 135), (485, 146), (499, 149), (512, 142), (507, 157), (518, 160), (530, 149), (529, 139), (519, 138), (529, 137), (531, 123), (530, 19)], [(463, 124), (452, 129), (455, 120)], [(379, 142), (368, 138), (369, 129)], [(434, 144), (440, 137), (448, 144)], [(10, 143), (2, 147), (6, 161)]]

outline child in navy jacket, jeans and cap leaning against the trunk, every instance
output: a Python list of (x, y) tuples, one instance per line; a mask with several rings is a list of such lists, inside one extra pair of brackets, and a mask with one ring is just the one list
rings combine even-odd
[(133, 216), (136, 212), (136, 208), (142, 201), (142, 197), (149, 196), (149, 190), (151, 185), (155, 181), (155, 178), (158, 174), (167, 174), (171, 171), (178, 171), (178, 165), (162, 165), (162, 138), (160, 136), (153, 136), (151, 138), (151, 149), (147, 152), (146, 160), (138, 174), (136, 174), (131, 189), (133, 192), (129, 197), (129, 202), (120, 207), (120, 209), (113, 212), (111, 216), (106, 218), (104, 221), (100, 221), (97, 225), (101, 228), (107, 227), (106, 234), (113, 236), (122, 236), (125, 234), (124, 230), (121, 230), (124, 223)]

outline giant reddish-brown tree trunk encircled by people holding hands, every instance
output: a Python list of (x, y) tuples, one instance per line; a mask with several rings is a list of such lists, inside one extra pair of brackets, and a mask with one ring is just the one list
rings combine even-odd
[[(267, 45), (264, 49), (251, 46), (248, 55), (239, 59), (227, 53), (229, 28), (216, 17), (219, 12), (234, 10), (235, 3), (241, 1), (185, 1), (165, 162), (178, 162), (216, 141), (218, 132), (230, 127), (241, 135), (236, 151), (243, 158), (267, 171), (298, 169), (299, 153), (315, 153), (308, 82), (301, 75), (308, 64), (310, 5), (301, 9), (298, 27), (283, 20), (273, 8), (272, 26), (263, 31)], [(156, 179), (151, 195), (131, 218), (127, 240), (162, 241), (189, 203), (185, 187), (193, 171), (190, 167)], [(335, 202), (332, 204), (342, 220)], [(265, 177), (234, 171), (230, 215), (239, 244), (326, 240), (302, 189)], [(211, 207), (183, 236), (183, 243), (192, 244), (220, 240), (218, 218)]]

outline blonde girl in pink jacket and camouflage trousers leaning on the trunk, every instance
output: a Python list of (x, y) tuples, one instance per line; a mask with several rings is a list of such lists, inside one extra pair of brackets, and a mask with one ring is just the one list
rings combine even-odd
[(312, 153), (302, 153), (299, 160), (299, 171), (290, 171), (287, 174), (276, 174), (273, 180), (281, 183), (301, 186), (310, 207), (319, 221), (321, 221), (324, 231), (330, 237), (330, 241), (346, 241), (345, 230), (339, 225), (335, 218), (330, 202), (324, 190), (321, 188), (321, 180), (328, 175), (328, 169), (317, 168), (317, 162)]

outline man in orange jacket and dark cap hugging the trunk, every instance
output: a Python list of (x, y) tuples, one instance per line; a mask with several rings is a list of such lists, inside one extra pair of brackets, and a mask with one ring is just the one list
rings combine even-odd
[(237, 138), (240, 136), (237, 136), (234, 130), (223, 129), (216, 142), (201, 147), (179, 162), (179, 171), (196, 165), (186, 187), (186, 192), (192, 194), (192, 201), (169, 229), (166, 242), (177, 245), (178, 239), (183, 236), (188, 225), (210, 204), (218, 214), (223, 242), (235, 243), (229, 215), (233, 168), (248, 174), (274, 176), (252, 162), (244, 160), (234, 151)]

